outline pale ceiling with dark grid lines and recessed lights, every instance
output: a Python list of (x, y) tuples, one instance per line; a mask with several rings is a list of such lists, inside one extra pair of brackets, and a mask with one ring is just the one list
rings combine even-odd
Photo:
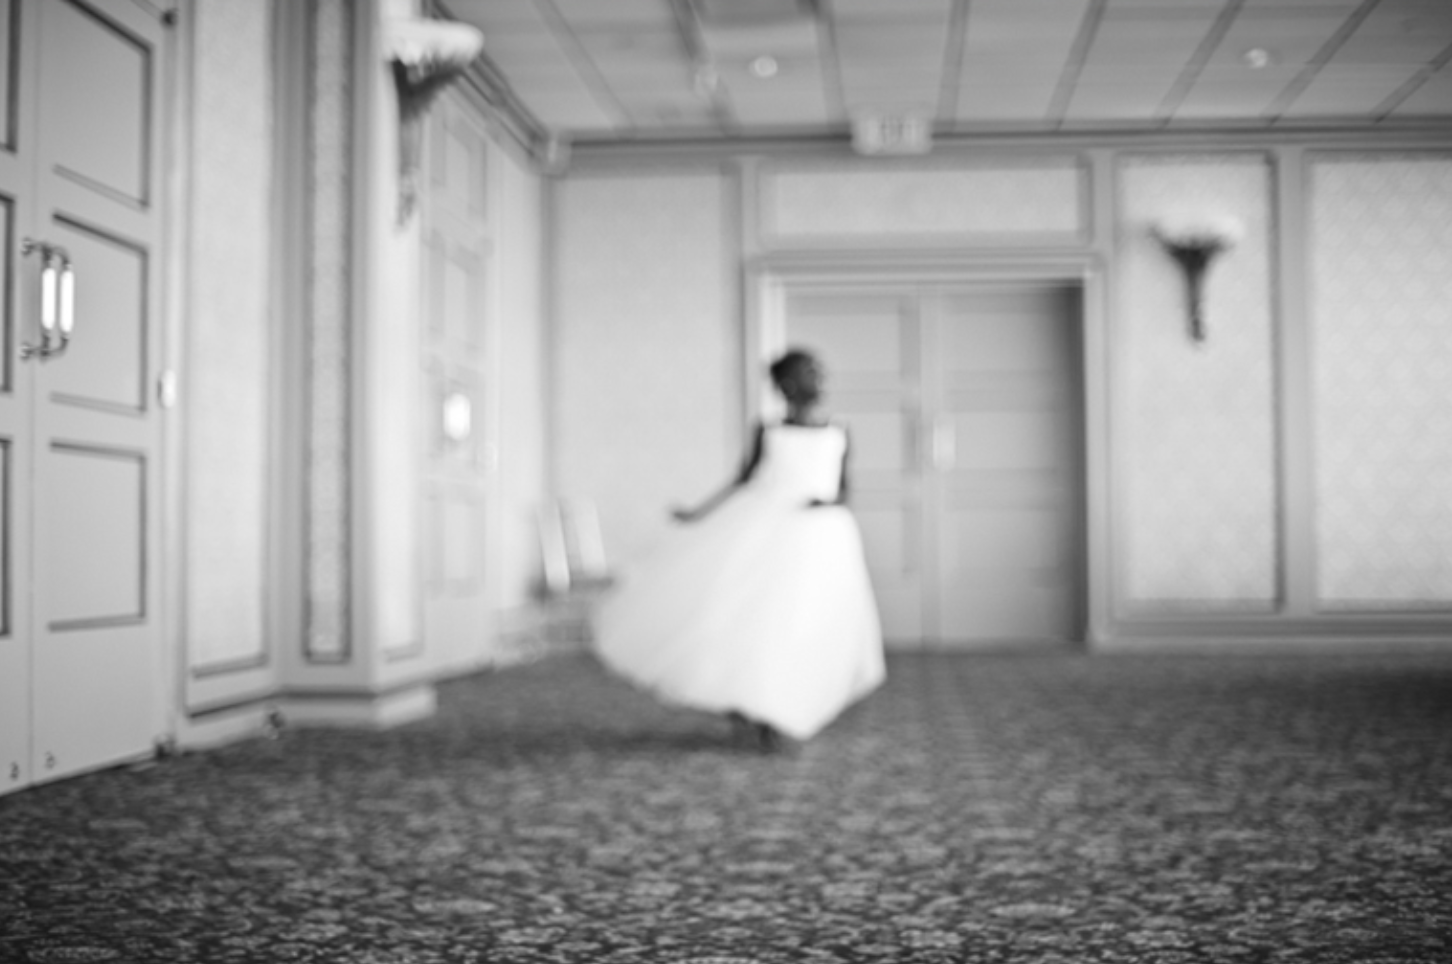
[(1452, 0), (436, 0), (475, 78), (576, 147), (842, 138), (1452, 129)]

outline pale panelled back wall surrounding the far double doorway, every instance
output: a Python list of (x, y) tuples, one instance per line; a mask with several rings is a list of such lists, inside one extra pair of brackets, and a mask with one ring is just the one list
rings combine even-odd
[[(738, 290), (759, 266), (1059, 257), (1102, 293), (1089, 557), (1106, 640), (1445, 639), (1452, 466), (1432, 412), (1452, 404), (1452, 328), (1432, 318), (1452, 296), (1452, 142), (1420, 141), (742, 155), (739, 192), (701, 160), (576, 151), (553, 221), (560, 489), (594, 497), (630, 553), (730, 467)], [(1050, 173), (1024, 174), (1035, 157)], [(1204, 344), (1150, 235), (1186, 209), (1244, 226), (1211, 267)]]

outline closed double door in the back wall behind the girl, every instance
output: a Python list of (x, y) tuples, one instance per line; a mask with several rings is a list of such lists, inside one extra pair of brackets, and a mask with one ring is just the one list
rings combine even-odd
[(822, 354), (851, 431), (889, 642), (1082, 639), (1077, 286), (797, 285), (784, 337)]

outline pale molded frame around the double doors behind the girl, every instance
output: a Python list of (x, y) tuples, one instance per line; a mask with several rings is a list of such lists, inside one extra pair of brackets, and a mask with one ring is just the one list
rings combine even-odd
[(1108, 285), (1101, 257), (1082, 250), (912, 253), (852, 251), (772, 254), (746, 264), (743, 277), (742, 420), (770, 404), (764, 377), (770, 346), (780, 341), (786, 293), (806, 285), (1064, 285), (1082, 295), (1082, 386), (1085, 444), (1085, 627), (1083, 645), (1095, 649), (1112, 636), (1111, 578), (1111, 431)]

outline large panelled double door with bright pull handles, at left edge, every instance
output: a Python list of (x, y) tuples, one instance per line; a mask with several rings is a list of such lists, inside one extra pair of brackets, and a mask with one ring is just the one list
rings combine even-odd
[(164, 32), (135, 0), (0, 1), (0, 793), (166, 726)]

